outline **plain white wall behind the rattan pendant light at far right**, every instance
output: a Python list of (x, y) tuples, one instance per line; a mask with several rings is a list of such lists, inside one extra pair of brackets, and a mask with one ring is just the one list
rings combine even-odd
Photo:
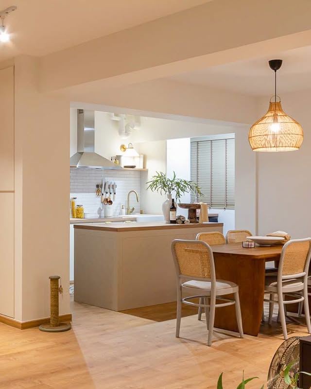
[[(304, 129), (298, 151), (258, 153), (259, 233), (287, 231), (293, 238), (311, 236), (310, 90), (284, 94), (284, 111)], [(269, 97), (259, 100), (258, 118), (268, 109)]]

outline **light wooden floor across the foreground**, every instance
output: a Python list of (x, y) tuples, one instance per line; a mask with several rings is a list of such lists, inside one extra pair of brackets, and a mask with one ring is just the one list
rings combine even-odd
[[(175, 338), (174, 310), (173, 303), (113, 312), (72, 302), (66, 333), (0, 324), (0, 388), (207, 389), (216, 388), (224, 371), (230, 389), (243, 370), (259, 377), (247, 388), (261, 387), (282, 342), (278, 324), (244, 339), (218, 331), (207, 347), (206, 323), (196, 315), (182, 319), (182, 337)], [(305, 325), (288, 324), (288, 330), (307, 335)]]

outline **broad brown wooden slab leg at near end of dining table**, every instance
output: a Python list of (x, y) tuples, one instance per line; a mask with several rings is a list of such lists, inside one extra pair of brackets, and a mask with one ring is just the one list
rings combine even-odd
[[(244, 334), (257, 336), (263, 309), (265, 260), (221, 253), (214, 253), (214, 260), (216, 278), (239, 285)], [(235, 306), (216, 308), (214, 326), (238, 332)]]

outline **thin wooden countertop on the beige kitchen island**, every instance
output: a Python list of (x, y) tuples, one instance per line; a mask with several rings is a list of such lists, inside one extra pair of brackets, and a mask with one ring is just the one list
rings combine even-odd
[(205, 227), (223, 227), (224, 223), (190, 223), (190, 224), (167, 224), (163, 226), (133, 226), (133, 227), (106, 227), (106, 226), (85, 226), (75, 224), (75, 229), (81, 230), (99, 230), (99, 231), (112, 231), (112, 232), (127, 232), (127, 231), (152, 231), (152, 230), (175, 230), (175, 229), (189, 229), (189, 228), (205, 228)]

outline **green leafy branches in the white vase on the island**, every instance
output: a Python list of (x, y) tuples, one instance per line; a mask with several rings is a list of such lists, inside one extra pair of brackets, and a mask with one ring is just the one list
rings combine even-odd
[(155, 176), (153, 176), (150, 181), (146, 182), (146, 184), (149, 184), (147, 189), (151, 189), (152, 192), (160, 192), (161, 195), (163, 193), (172, 195), (174, 192), (176, 202), (182, 195), (189, 192), (194, 192), (199, 196), (203, 196), (201, 188), (194, 181), (176, 178), (175, 172), (173, 172), (172, 178), (167, 177), (163, 172), (156, 172)]

